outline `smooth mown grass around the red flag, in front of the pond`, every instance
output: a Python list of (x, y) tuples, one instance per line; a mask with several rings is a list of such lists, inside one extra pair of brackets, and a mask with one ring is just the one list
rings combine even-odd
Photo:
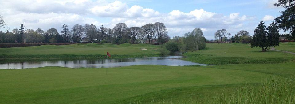
[[(217, 66), (135, 65), (106, 69), (0, 70), (0, 103), (150, 103), (228, 93), (245, 83), (293, 76), (295, 62)], [(258, 67), (255, 67), (258, 66)]]

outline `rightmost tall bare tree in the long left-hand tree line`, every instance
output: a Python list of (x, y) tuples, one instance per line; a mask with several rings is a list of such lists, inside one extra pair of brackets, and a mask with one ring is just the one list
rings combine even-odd
[(160, 22), (156, 22), (155, 24), (155, 28), (156, 28), (156, 34), (158, 37), (158, 42), (160, 42), (161, 39), (163, 39), (163, 36), (167, 35), (168, 31), (166, 29), (165, 24), (160, 23)]

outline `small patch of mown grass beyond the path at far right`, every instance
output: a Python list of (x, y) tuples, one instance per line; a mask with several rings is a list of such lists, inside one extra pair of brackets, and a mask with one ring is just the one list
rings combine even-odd
[(295, 53), (295, 42), (280, 43), (280, 46), (275, 47), (276, 50), (289, 51)]

